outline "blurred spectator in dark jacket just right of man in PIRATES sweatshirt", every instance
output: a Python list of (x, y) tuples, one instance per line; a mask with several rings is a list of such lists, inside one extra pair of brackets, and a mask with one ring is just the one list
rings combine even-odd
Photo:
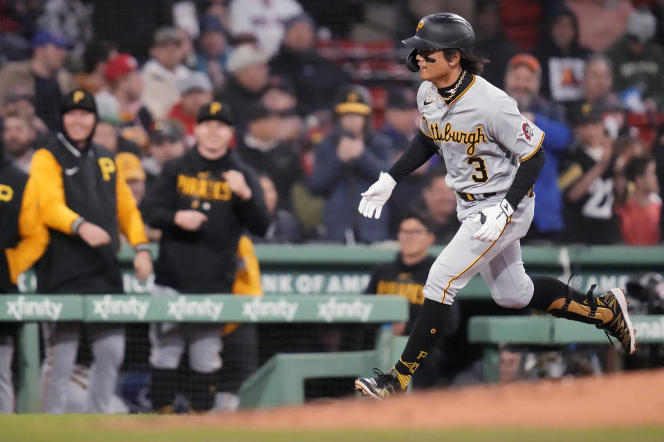
[(260, 177), (261, 189), (265, 197), (265, 205), (272, 216), (270, 227), (265, 237), (252, 236), (255, 243), (268, 242), (270, 244), (295, 244), (302, 242), (302, 227), (295, 215), (286, 209), (279, 209), (279, 194), (275, 183), (268, 175)]

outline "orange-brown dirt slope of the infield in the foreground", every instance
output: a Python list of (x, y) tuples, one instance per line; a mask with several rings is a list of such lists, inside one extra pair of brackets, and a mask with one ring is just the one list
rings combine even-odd
[(356, 398), (228, 416), (198, 416), (187, 419), (185, 425), (266, 430), (524, 425), (560, 428), (563, 422), (566, 427), (663, 425), (663, 392), (664, 369), (658, 369), (414, 393), (387, 401)]

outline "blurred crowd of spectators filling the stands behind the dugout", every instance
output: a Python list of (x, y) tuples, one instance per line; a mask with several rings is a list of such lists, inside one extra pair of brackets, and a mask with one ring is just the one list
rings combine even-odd
[[(442, 10), (469, 19), (476, 52), (491, 60), (486, 78), (546, 133), (524, 242), (660, 244), (664, 6), (655, 0), (0, 0), (1, 151), (38, 174), (37, 152), (66, 131), (62, 113), (82, 109), (70, 94), (93, 95), (83, 109), (96, 114), (92, 142), (115, 155), (146, 238), (159, 242), (169, 233), (151, 222), (161, 218), (145, 195), (160, 191), (174, 160), (194, 155), (201, 110), (219, 102), (232, 110), (220, 120), (234, 127), (230, 151), (256, 173), (271, 218), (246, 232), (253, 242), (371, 244), (403, 236), (411, 220), (446, 244), (459, 197), (438, 158), (396, 187), (380, 220), (357, 210), (420, 130), (420, 80), (399, 41), (416, 17)], [(133, 237), (119, 240), (141, 245)]]

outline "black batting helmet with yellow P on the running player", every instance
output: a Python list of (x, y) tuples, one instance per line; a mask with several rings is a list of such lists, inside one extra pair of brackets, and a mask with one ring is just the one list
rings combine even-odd
[(414, 48), (406, 58), (406, 66), (418, 71), (417, 50), (458, 49), (470, 55), (475, 46), (475, 32), (470, 23), (452, 12), (430, 14), (420, 20), (415, 35), (401, 41)]

